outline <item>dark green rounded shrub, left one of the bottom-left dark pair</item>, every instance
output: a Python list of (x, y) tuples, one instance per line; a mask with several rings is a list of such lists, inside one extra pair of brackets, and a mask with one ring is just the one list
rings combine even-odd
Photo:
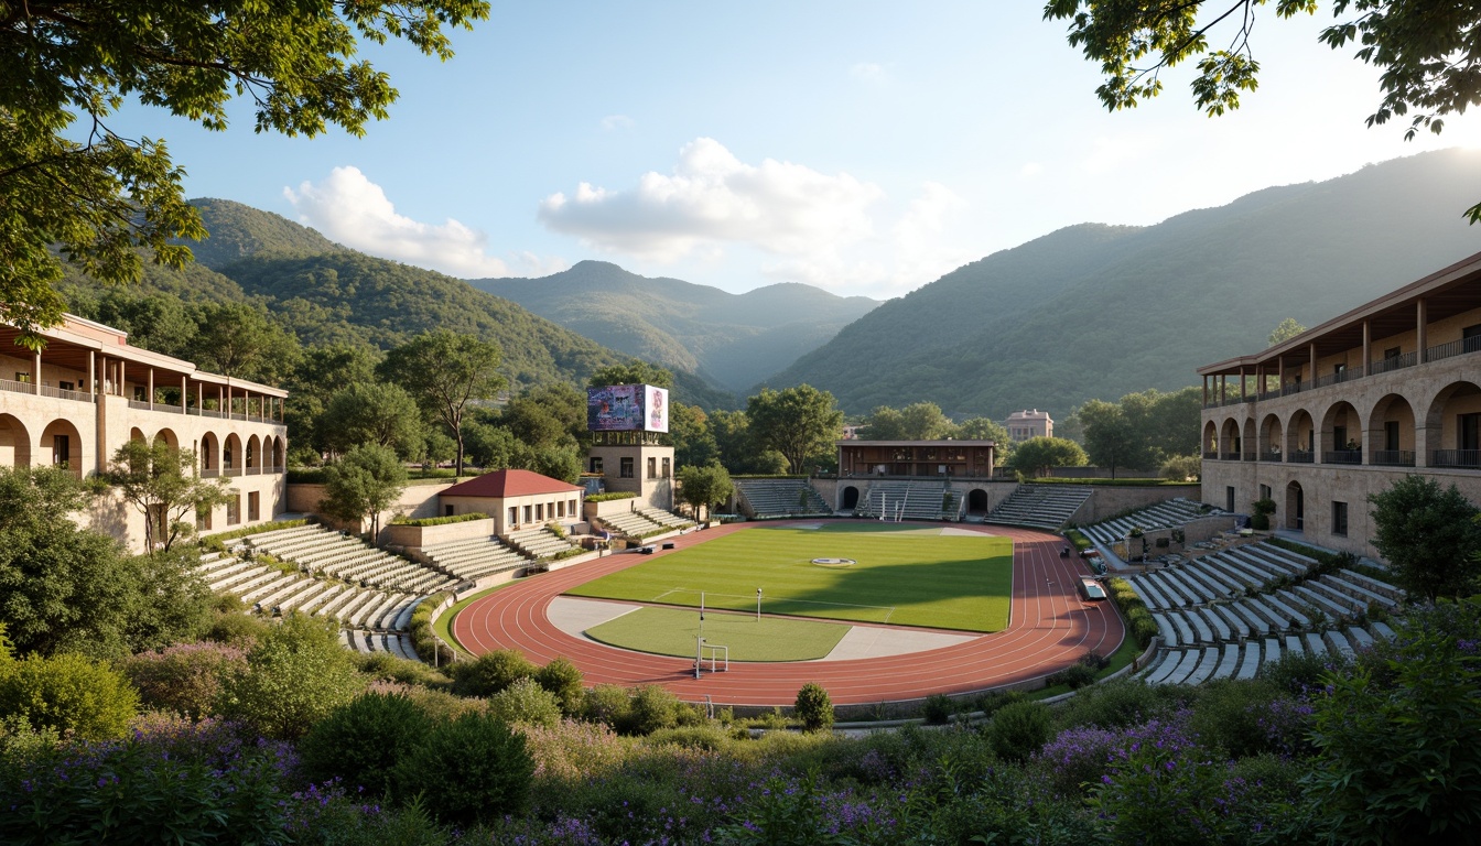
[(315, 784), (338, 778), (372, 796), (387, 794), (395, 765), (422, 744), (431, 726), (403, 695), (361, 693), (298, 742), (299, 773)]

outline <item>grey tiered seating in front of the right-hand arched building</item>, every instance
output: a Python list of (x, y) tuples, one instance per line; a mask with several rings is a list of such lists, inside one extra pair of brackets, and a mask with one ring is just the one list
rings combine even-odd
[[(1360, 628), (1352, 621), (1370, 606), (1397, 609), (1403, 593), (1352, 570), (1306, 578), (1315, 563), (1271, 544), (1250, 544), (1130, 576), (1152, 609), (1164, 647), (1145, 680), (1251, 679), (1263, 662), (1288, 652), (1351, 653), (1376, 639), (1392, 640), (1382, 622)], [(1274, 588), (1288, 579), (1300, 581)]]

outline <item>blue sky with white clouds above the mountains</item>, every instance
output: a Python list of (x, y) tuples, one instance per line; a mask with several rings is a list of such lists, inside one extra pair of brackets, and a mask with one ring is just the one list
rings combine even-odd
[[(367, 46), (401, 99), (364, 138), (227, 132), (130, 107), (191, 197), (277, 212), (465, 279), (582, 259), (742, 292), (804, 282), (900, 296), (1077, 222), (1155, 224), (1269, 185), (1481, 145), (1367, 129), (1377, 73), (1254, 31), (1260, 90), (1220, 119), (1167, 90), (1106, 113), (1096, 67), (1040, 3), (496, 3), (446, 64)], [(1217, 39), (1216, 39), (1217, 40)], [(1456, 210), (1457, 215), (1460, 209)]]

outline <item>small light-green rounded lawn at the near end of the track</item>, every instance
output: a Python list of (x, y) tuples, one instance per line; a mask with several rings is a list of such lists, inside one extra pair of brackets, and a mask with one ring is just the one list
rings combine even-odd
[[(823, 658), (849, 633), (841, 622), (813, 622), (754, 613), (705, 613), (705, 643), (730, 649), (732, 661), (809, 661)], [(693, 658), (699, 615), (677, 607), (640, 607), (616, 619), (588, 628), (592, 640)], [(708, 667), (709, 655), (705, 655)]]

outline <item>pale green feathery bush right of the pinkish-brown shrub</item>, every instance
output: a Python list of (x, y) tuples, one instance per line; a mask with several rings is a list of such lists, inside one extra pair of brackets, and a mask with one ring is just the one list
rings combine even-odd
[(338, 627), (289, 613), (247, 652), (247, 670), (224, 680), (216, 711), (267, 736), (295, 738), (363, 687)]

